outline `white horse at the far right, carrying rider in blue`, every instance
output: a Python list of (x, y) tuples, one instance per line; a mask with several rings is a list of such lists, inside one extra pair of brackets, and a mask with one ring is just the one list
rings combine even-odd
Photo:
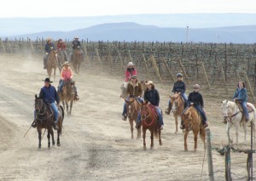
[[(227, 134), (229, 136), (230, 128), (234, 125), (236, 127), (236, 144), (238, 144), (238, 128), (240, 126), (241, 122), (241, 111), (239, 110), (239, 107), (236, 105), (235, 102), (224, 100), (221, 101), (222, 105), (222, 113), (224, 116), (224, 119), (227, 121)], [(252, 110), (249, 111), (249, 120), (248, 122), (245, 122), (245, 117), (243, 118), (241, 124), (244, 130), (244, 143), (246, 143), (247, 140), (247, 127), (250, 124), (250, 122), (253, 122), (253, 133), (254, 133), (254, 139), (255, 139), (255, 120), (256, 120), (256, 109), (253, 104), (247, 103), (247, 106)]]

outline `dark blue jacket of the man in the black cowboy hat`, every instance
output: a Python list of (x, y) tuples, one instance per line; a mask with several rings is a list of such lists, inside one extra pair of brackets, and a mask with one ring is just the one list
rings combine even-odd
[(57, 102), (57, 104), (60, 103), (59, 96), (56, 92), (56, 89), (54, 86), (49, 84), (49, 88), (41, 88), (41, 91), (39, 93), (39, 98), (43, 99), (45, 103), (51, 104)]

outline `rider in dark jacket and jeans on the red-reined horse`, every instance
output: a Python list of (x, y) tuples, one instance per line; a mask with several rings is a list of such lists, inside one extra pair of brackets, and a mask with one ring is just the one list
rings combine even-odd
[[(154, 88), (154, 83), (152, 81), (146, 82), (147, 89), (144, 92), (144, 100), (148, 101), (148, 104), (154, 105), (154, 108), (158, 115), (158, 122), (160, 125), (160, 130), (164, 127), (163, 116), (159, 107), (160, 96), (157, 89)], [(138, 129), (141, 126), (142, 118), (141, 112), (137, 116), (136, 128)]]

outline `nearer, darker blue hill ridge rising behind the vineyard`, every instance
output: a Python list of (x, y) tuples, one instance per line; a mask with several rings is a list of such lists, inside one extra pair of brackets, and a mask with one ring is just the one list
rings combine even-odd
[[(232, 42), (232, 43), (255, 43), (256, 25), (241, 25), (219, 28), (189, 28), (189, 42)], [(30, 37), (33, 40), (38, 37), (53, 37), (73, 40), (80, 39), (89, 41), (125, 41), (125, 42), (186, 42), (187, 28), (164, 28), (155, 25), (138, 25), (137, 23), (110, 23), (93, 25), (88, 28), (74, 31), (42, 31), (32, 34), (23, 34), (9, 37)]]

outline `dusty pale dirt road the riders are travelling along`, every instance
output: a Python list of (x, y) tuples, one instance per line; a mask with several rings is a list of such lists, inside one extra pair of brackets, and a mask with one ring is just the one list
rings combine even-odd
[[(38, 150), (38, 133), (32, 128), (35, 93), (44, 86), (46, 71), (41, 57), (0, 55), (0, 180), (208, 180), (207, 156), (201, 140), (183, 151), (183, 133), (174, 134), (173, 116), (164, 116), (162, 143), (143, 150), (143, 139), (131, 139), (129, 122), (121, 120), (119, 99), (122, 77), (83, 67), (75, 75), (80, 100), (72, 116), (65, 115), (61, 146), (47, 148), (44, 135)], [(53, 85), (57, 87), (59, 71)], [(158, 85), (160, 107), (166, 108), (167, 85)], [(226, 142), (219, 100), (206, 98), (212, 141)], [(56, 133), (55, 133), (56, 135)], [(241, 134), (242, 135), (242, 134)], [(242, 139), (240, 139), (242, 140)], [(212, 152), (214, 165), (224, 171), (224, 157)], [(224, 173), (216, 173), (224, 180)]]

